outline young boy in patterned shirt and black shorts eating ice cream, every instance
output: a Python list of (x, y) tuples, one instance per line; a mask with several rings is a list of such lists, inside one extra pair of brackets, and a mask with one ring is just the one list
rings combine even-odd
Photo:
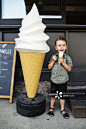
[[(53, 55), (49, 61), (48, 69), (51, 71), (51, 93), (56, 94), (56, 92), (66, 92), (67, 90), (67, 81), (69, 80), (68, 72), (71, 71), (73, 64), (71, 57), (65, 54), (67, 49), (67, 41), (64, 37), (59, 36), (55, 41), (55, 49), (58, 53)], [(59, 52), (63, 52), (63, 58), (59, 57)], [(59, 64), (60, 62), (60, 64)], [(54, 103), (55, 96), (51, 96), (50, 108), (48, 115), (54, 116)], [(60, 98), (61, 113), (64, 118), (69, 118), (69, 115), (65, 111), (65, 99)]]

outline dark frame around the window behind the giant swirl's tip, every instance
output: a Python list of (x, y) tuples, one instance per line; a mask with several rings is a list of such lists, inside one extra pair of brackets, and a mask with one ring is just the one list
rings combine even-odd
[[(54, 19), (54, 18), (43, 18), (43, 22), (45, 24), (65, 24), (66, 23), (66, 10), (65, 10), (65, 0), (61, 1), (61, 19)], [(0, 0), (0, 25), (21, 25), (22, 19), (2, 19), (2, 6)]]

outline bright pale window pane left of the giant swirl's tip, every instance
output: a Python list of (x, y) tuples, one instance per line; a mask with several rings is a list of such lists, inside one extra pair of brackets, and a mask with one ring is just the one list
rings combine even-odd
[(24, 18), (26, 16), (24, 0), (2, 0), (2, 19)]

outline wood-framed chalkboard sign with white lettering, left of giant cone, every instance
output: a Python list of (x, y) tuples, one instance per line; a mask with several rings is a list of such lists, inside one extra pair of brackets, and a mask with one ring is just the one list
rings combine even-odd
[(0, 42), (0, 98), (10, 98), (10, 103), (13, 95), (15, 58), (15, 42)]

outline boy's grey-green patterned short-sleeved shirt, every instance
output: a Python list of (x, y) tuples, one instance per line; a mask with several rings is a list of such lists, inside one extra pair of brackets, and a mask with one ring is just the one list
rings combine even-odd
[[(55, 62), (54, 66), (51, 70), (51, 81), (56, 84), (62, 84), (69, 80), (68, 71), (65, 69), (65, 67), (63, 65), (61, 65), (61, 64), (59, 65), (58, 53), (54, 54), (54, 55), (56, 55), (57, 61)], [(52, 61), (52, 57), (54, 55), (51, 56), (49, 63)], [(67, 65), (69, 65), (70, 67), (73, 67), (72, 59), (70, 56), (68, 56), (67, 54), (64, 53), (63, 60)]]

